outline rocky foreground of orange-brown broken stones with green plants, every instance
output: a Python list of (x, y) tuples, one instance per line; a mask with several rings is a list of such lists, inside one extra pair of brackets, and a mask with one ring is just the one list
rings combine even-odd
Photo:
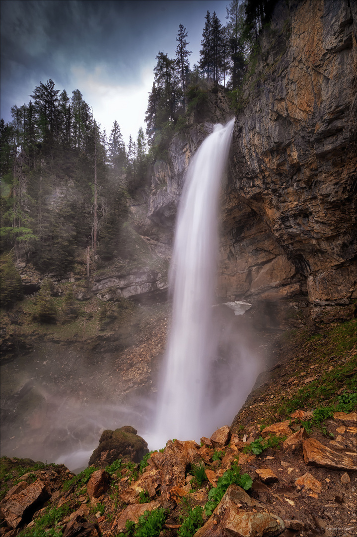
[(200, 445), (169, 440), (140, 465), (127, 452), (79, 476), (5, 457), (2, 480), (12, 486), (1, 502), (1, 535), (355, 535), (356, 413), (335, 412), (324, 436), (307, 434), (301, 423), (310, 418), (295, 411), (240, 434), (224, 426)]

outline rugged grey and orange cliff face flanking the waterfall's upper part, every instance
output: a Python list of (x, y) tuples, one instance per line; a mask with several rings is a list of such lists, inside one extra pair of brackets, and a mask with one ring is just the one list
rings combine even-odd
[[(347, 0), (278, 2), (261, 37), (222, 193), (222, 298), (308, 297), (316, 318), (355, 296), (354, 22)], [(158, 224), (174, 220), (189, 157), (211, 127), (198, 129), (174, 139), (172, 165), (157, 170)]]

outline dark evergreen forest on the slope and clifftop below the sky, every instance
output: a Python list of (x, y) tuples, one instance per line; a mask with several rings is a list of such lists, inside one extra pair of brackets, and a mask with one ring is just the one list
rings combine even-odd
[(225, 25), (207, 11), (200, 60), (192, 67), (180, 24), (176, 56), (157, 55), (146, 132), (140, 127), (127, 146), (120, 118), (106, 133), (81, 91), (69, 95), (51, 78), (34, 88), (28, 104), (13, 106), (12, 121), (0, 123), (2, 252), (57, 275), (70, 271), (85, 249), (97, 265), (130, 256), (130, 199), (145, 197), (154, 162), (168, 158), (175, 133), (204, 115), (209, 92), (221, 85), (234, 107), (273, 5), (234, 0)]

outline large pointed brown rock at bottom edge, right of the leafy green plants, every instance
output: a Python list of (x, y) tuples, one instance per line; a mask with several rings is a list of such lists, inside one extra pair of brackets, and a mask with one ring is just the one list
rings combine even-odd
[(195, 537), (272, 537), (280, 535), (284, 529), (284, 521), (280, 517), (267, 512), (266, 507), (250, 498), (247, 492), (237, 485), (229, 485), (212, 516), (198, 529)]

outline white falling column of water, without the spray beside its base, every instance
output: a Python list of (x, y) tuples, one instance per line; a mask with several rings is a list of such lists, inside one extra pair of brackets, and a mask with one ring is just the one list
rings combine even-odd
[[(187, 171), (178, 207), (170, 287), (169, 334), (155, 438), (199, 438), (214, 409), (207, 398), (210, 364), (217, 352), (212, 338), (218, 257), (218, 199), (234, 119), (215, 125)], [(212, 340), (213, 339), (213, 340)], [(211, 424), (212, 427), (212, 424)], [(215, 424), (213, 431), (215, 429)], [(212, 431), (212, 432), (213, 432)]]

